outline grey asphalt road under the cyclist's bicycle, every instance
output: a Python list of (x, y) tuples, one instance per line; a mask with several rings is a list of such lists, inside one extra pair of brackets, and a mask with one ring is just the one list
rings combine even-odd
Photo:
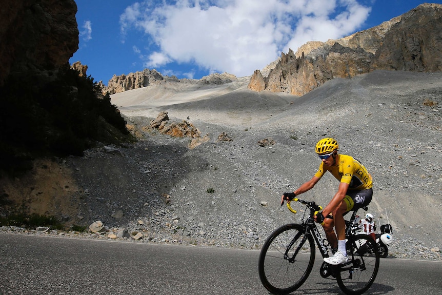
[[(268, 294), (258, 251), (0, 234), (0, 294)], [(342, 293), (320, 261), (293, 294)], [(381, 259), (368, 294), (441, 294), (442, 262)]]

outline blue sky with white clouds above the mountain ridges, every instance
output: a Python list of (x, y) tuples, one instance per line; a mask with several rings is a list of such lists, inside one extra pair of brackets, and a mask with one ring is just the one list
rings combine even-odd
[[(79, 49), (70, 63), (94, 81), (145, 68), (199, 79), (253, 74), (289, 48), (388, 21), (415, 0), (75, 0)], [(440, 2), (431, 2), (440, 3)]]

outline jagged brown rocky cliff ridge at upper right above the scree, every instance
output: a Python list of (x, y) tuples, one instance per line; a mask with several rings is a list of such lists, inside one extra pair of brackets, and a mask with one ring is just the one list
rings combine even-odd
[(441, 34), (442, 5), (421, 4), (339, 40), (308, 42), (296, 53), (289, 49), (267, 76), (255, 71), (248, 87), (300, 96), (333, 77), (350, 78), (375, 69), (441, 71)]

